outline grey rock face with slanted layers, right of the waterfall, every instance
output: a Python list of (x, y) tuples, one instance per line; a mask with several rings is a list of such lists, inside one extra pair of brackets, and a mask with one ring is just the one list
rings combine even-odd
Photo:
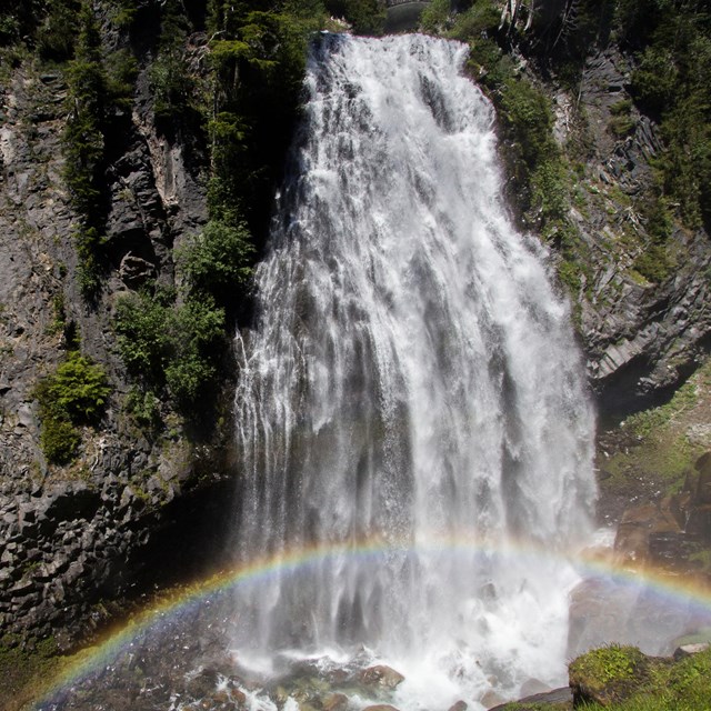
[[(580, 96), (557, 97), (557, 136), (570, 134), (572, 107), (587, 114), (591, 144), (582, 212), (571, 217), (590, 253), (591, 279), (578, 294), (580, 333), (588, 372), (603, 413), (625, 414), (670, 395), (708, 356), (711, 347), (711, 241), (699, 230), (677, 230), (670, 241), (680, 257), (661, 283), (631, 269), (638, 252), (625, 248), (625, 233), (647, 226), (633, 198), (652, 181), (650, 159), (661, 147), (654, 124), (631, 108), (633, 131), (610, 130), (613, 108), (629, 101), (630, 62), (615, 50), (589, 60)], [(583, 187), (579, 187), (583, 190)], [(637, 248), (639, 251), (639, 248)], [(583, 293), (584, 291), (584, 293)]]

